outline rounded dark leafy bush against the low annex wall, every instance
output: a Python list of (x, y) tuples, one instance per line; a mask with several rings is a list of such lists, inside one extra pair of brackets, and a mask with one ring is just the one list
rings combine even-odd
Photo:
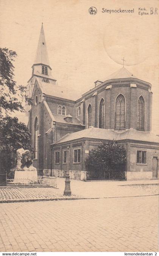
[(104, 172), (110, 173), (112, 178), (114, 173), (118, 173), (117, 177), (121, 176), (125, 163), (126, 151), (123, 145), (119, 145), (115, 141), (101, 143), (98, 148), (90, 151), (86, 159), (86, 166), (98, 179), (104, 178)]

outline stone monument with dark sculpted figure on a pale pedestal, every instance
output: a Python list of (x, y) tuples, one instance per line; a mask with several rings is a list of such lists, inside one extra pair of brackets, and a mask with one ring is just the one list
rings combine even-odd
[(33, 166), (32, 153), (20, 148), (17, 150), (14, 183), (29, 184), (30, 182), (37, 182), (37, 170)]

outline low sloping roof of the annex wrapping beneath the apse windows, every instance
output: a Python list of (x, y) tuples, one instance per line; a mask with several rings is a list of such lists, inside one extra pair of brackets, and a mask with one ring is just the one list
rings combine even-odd
[(97, 139), (97, 140), (136, 140), (143, 142), (159, 143), (159, 137), (151, 132), (142, 132), (134, 129), (115, 131), (100, 128), (89, 128), (79, 132), (74, 132), (66, 135), (57, 141), (55, 144), (64, 143), (67, 141), (78, 140), (82, 138)]

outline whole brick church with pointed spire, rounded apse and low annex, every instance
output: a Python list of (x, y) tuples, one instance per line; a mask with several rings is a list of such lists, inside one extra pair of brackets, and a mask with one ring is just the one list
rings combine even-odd
[(84, 94), (58, 86), (52, 77), (43, 25), (27, 95), (33, 105), (28, 129), (34, 148), (33, 165), (40, 175), (64, 177), (69, 147), (70, 178), (90, 178), (85, 160), (91, 149), (115, 140), (126, 149), (125, 177), (159, 176), (159, 137), (151, 133), (151, 84), (125, 68), (95, 81)]

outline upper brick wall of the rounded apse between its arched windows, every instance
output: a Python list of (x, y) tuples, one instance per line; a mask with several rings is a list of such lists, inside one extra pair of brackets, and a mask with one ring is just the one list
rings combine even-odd
[[(95, 91), (90, 91), (85, 97), (85, 122), (87, 124), (87, 108), (92, 106), (92, 126), (99, 127), (99, 104), (101, 98), (105, 101), (105, 129), (115, 128), (115, 99), (121, 93), (126, 101), (125, 129), (137, 129), (137, 102), (142, 95), (145, 99), (145, 131), (151, 130), (151, 112), (152, 112), (152, 93), (148, 85), (142, 82), (136, 82), (136, 88), (130, 84), (134, 81), (112, 82), (112, 88), (106, 90), (109, 83), (97, 88), (97, 95), (93, 96)], [(87, 128), (87, 125), (86, 125)]]

